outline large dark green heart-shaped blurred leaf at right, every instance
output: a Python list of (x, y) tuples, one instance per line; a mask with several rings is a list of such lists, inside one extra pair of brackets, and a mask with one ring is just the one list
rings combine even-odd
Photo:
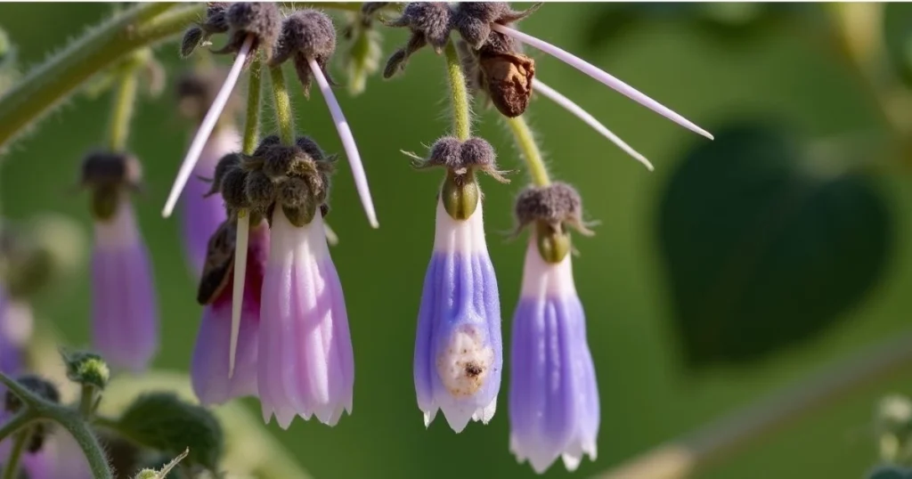
[[(821, 173), (761, 123), (687, 152), (658, 241), (689, 366), (748, 363), (818, 336), (883, 274), (893, 225), (858, 172)], [(832, 165), (827, 165), (832, 166)]]

